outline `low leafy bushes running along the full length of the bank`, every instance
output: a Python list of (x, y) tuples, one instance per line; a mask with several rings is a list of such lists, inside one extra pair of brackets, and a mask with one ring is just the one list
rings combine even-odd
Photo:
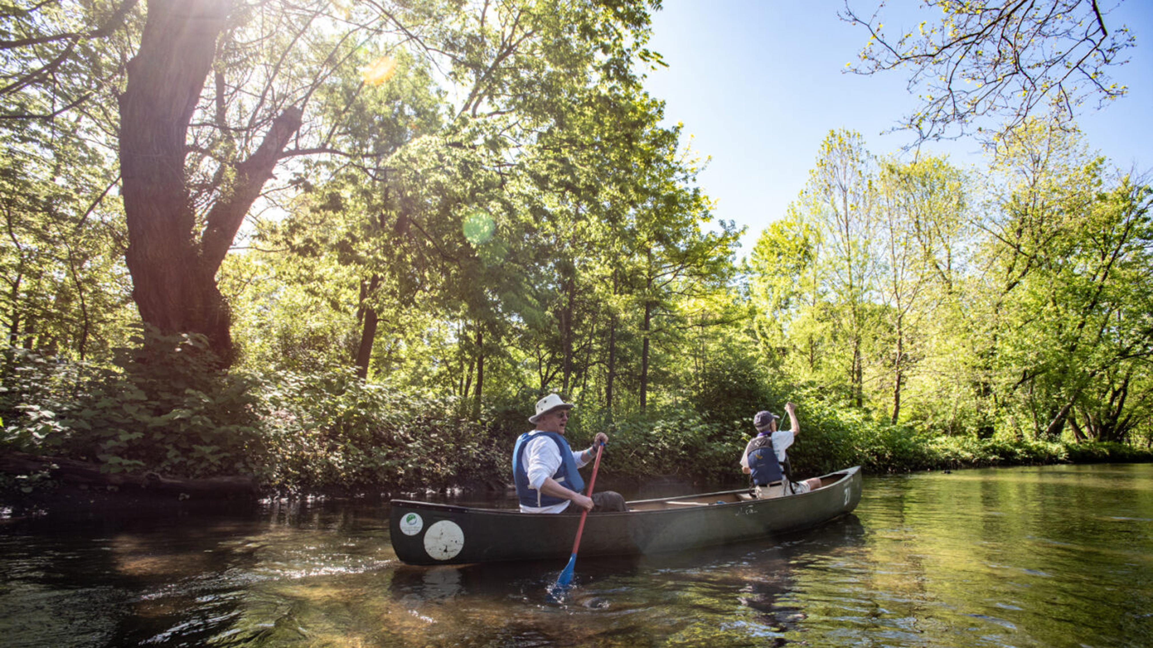
[[(0, 454), (84, 462), (95, 466), (89, 476), (105, 475), (105, 485), (118, 490), (175, 484), (175, 497), (208, 496), (191, 485), (181, 490), (181, 480), (250, 483), (256, 497), (420, 493), (506, 488), (513, 442), (532, 427), (525, 404), (535, 394), (489, 404), (474, 421), (459, 399), (366, 383), (351, 371), (221, 375), (196, 353), (198, 344), (194, 337), (166, 339), (160, 351), (133, 352), (120, 364), (128, 369), (7, 349)], [(854, 465), (882, 474), (1153, 460), (1147, 447), (1116, 443), (926, 435), (816, 399), (800, 400), (799, 410), (802, 432), (789, 450), (798, 476)], [(581, 447), (600, 430), (611, 439), (601, 465), (605, 483), (746, 479), (738, 461), (753, 434), (748, 421), (665, 407), (610, 422), (582, 408), (568, 436)], [(52, 462), (36, 466), (0, 461), (0, 491), (20, 498), (68, 479)], [(99, 488), (100, 481), (91, 483)]]

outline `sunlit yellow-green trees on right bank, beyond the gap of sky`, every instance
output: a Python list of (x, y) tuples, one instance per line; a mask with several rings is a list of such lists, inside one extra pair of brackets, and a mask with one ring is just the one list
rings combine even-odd
[(1151, 438), (1151, 188), (1035, 120), (986, 174), (874, 159), (830, 133), (759, 240), (766, 367), (924, 434)]

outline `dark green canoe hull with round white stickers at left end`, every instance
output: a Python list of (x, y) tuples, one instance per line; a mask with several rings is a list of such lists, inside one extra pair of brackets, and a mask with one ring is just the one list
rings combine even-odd
[[(588, 515), (580, 556), (627, 556), (684, 551), (744, 542), (809, 528), (852, 511), (860, 500), (859, 467), (822, 476), (812, 492), (774, 499), (736, 500), (746, 492), (693, 496), (732, 500), (684, 505), (685, 497), (630, 502), (650, 508)], [(669, 506), (669, 507), (665, 507)], [(410, 565), (568, 558), (580, 515), (521, 513), (393, 500), (390, 536), (397, 557)]]

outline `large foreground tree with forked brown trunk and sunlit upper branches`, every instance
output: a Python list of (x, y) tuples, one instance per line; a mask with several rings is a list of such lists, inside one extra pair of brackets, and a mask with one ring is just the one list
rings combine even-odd
[[(301, 156), (359, 156), (337, 149), (336, 125), (312, 113), (317, 90), (354, 65), (361, 46), (384, 53), (408, 47), (445, 66), (446, 78), (467, 92), (457, 114), (475, 119), (497, 104), (495, 112), (563, 101), (556, 86), (572, 76), (628, 77), (631, 61), (649, 56), (642, 47), (648, 6), (150, 0), (126, 66), (120, 114), (104, 115), (118, 141), (127, 262), (142, 317), (164, 331), (204, 333), (225, 361), (231, 359), (231, 317), (216, 273), (244, 216), (276, 188), (266, 183), (278, 165)], [(24, 52), (45, 38), (86, 43), (135, 33), (137, 23), (125, 18), (136, 16), (134, 10), (135, 2), (121, 3), (113, 15), (120, 20), (110, 18), (108, 29), (78, 33), (60, 23), (58, 33), (5, 45)], [(66, 15), (37, 5), (14, 20), (27, 25)], [(65, 47), (59, 58), (73, 60), (71, 50)], [(43, 69), (61, 65), (53, 61)], [(110, 83), (119, 78), (112, 74)], [(513, 89), (520, 78), (533, 83)], [(84, 103), (76, 88), (86, 81), (69, 78), (80, 97), (70, 106)], [(0, 91), (47, 92), (53, 83), (44, 73)]]

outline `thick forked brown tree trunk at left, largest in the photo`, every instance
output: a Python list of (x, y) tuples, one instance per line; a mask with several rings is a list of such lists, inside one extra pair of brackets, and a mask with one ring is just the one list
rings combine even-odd
[(233, 360), (231, 316), (216, 272), (301, 123), (296, 107), (277, 116), (256, 151), (233, 165), (198, 236), (184, 172), (188, 125), (231, 9), (231, 0), (150, 0), (119, 99), (133, 299), (161, 333), (206, 336), (225, 364)]

